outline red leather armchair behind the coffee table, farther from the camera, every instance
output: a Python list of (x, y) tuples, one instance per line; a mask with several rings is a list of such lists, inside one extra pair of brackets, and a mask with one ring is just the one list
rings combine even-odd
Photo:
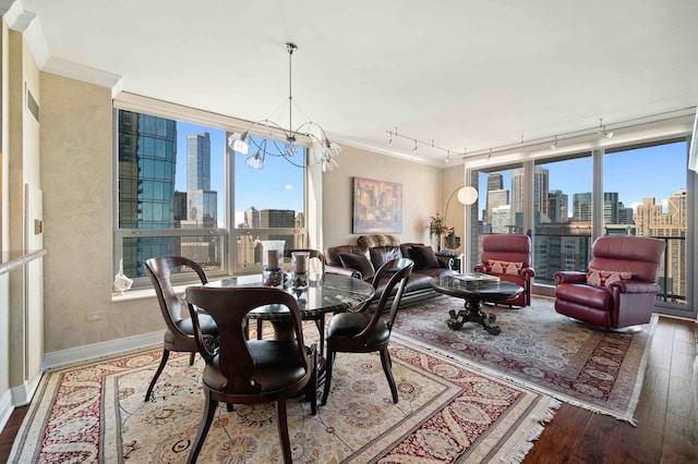
[(531, 304), (531, 280), (535, 271), (531, 268), (531, 239), (528, 235), (494, 234), (482, 239), (482, 262), (476, 272), (496, 274), (524, 288), (524, 293), (514, 300), (496, 302), (498, 305), (528, 306)]

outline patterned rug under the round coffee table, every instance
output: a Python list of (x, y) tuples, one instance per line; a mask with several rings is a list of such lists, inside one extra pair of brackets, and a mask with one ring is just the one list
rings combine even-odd
[(448, 312), (462, 309), (464, 301), (444, 295), (400, 308), (394, 335), (636, 425), (633, 415), (658, 317), (636, 334), (607, 332), (555, 313), (553, 304), (552, 298), (534, 297), (531, 306), (518, 309), (485, 305), (502, 328), (491, 335), (473, 322), (449, 329)]

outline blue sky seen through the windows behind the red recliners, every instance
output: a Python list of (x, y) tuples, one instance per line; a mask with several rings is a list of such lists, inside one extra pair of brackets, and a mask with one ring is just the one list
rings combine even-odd
[[(643, 198), (654, 197), (664, 206), (679, 188), (686, 188), (687, 146), (685, 142), (607, 154), (604, 157), (604, 192), (617, 192), (618, 200), (636, 209)], [(573, 195), (591, 192), (591, 158), (578, 158), (541, 164), (550, 171), (549, 190), (568, 196), (571, 215)], [(503, 171), (504, 188), (512, 190), (513, 170)], [(480, 178), (479, 198), (486, 194), (486, 174)], [(484, 179), (484, 181), (483, 181)], [(484, 203), (482, 203), (482, 208)]]

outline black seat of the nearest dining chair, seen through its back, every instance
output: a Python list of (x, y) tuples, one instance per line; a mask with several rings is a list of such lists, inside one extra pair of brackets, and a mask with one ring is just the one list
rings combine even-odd
[[(254, 359), (253, 380), (260, 392), (287, 388), (305, 376), (305, 366), (297, 356), (294, 341), (250, 340), (250, 354)], [(212, 390), (224, 391), (228, 380), (219, 368), (219, 354), (204, 368), (203, 381)]]

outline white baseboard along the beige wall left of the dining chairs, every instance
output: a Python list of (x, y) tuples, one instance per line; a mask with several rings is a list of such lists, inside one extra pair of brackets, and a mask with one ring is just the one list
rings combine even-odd
[(164, 331), (159, 330), (157, 332), (45, 353), (41, 370), (53, 370), (74, 364), (130, 353), (148, 346), (163, 345), (163, 334)]

